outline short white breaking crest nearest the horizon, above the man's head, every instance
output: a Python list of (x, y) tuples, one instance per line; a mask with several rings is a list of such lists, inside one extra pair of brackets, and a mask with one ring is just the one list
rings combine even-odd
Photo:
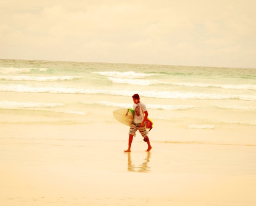
[(93, 72), (94, 74), (100, 74), (102, 76), (107, 77), (115, 77), (115, 78), (127, 78), (127, 79), (133, 79), (133, 78), (145, 78), (150, 76), (155, 76), (158, 74), (146, 74), (146, 73), (135, 73), (135, 72)]

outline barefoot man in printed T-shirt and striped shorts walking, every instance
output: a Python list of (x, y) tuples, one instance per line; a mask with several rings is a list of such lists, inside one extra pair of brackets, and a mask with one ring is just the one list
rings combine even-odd
[(147, 132), (146, 126), (145, 126), (145, 121), (148, 116), (146, 105), (140, 101), (139, 94), (134, 94), (132, 96), (132, 99), (134, 102), (134, 105), (133, 105), (134, 117), (133, 117), (133, 121), (130, 126), (130, 130), (129, 130), (128, 149), (125, 150), (125, 152), (131, 151), (131, 143), (133, 140), (133, 136), (135, 136), (135, 132), (137, 130), (140, 131), (141, 135), (144, 138), (143, 140), (147, 143), (148, 148), (146, 151), (150, 151), (150, 149), (152, 149), (152, 146), (150, 145), (149, 138), (147, 136), (148, 132)]

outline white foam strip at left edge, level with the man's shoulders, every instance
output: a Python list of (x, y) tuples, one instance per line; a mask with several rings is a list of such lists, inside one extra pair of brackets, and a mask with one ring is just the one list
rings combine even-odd
[(1, 109), (22, 109), (22, 108), (53, 108), (63, 106), (61, 103), (47, 102), (19, 102), (19, 101), (0, 101)]

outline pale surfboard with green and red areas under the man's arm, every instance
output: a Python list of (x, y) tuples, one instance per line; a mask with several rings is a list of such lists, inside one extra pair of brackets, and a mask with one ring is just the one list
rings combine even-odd
[[(127, 126), (131, 126), (131, 123), (133, 121), (134, 111), (132, 109), (119, 108), (113, 111), (113, 115), (117, 121)], [(147, 118), (145, 121), (145, 125), (146, 125), (146, 128), (149, 129), (150, 131), (153, 128), (152, 120)]]

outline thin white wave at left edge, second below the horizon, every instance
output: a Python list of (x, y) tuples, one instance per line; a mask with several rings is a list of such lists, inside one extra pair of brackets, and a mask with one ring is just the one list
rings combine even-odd
[(59, 80), (73, 80), (82, 78), (81, 76), (52, 76), (52, 77), (38, 77), (38, 76), (0, 76), (0, 80), (9, 81), (59, 81)]

